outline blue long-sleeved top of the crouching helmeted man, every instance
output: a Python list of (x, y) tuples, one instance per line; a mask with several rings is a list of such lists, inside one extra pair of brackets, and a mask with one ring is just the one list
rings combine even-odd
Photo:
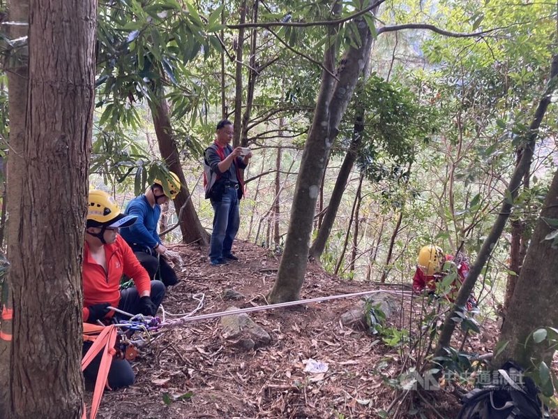
[(159, 205), (151, 207), (145, 195), (136, 196), (128, 203), (126, 214), (137, 216), (132, 226), (123, 228), (120, 232), (132, 249), (136, 250), (138, 247), (153, 249), (161, 242), (157, 233), (157, 223), (161, 214)]

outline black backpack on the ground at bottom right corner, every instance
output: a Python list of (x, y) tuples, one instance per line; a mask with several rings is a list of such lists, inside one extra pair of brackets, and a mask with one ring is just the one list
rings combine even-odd
[[(462, 398), (458, 419), (540, 419), (543, 417), (538, 388), (522, 375), (513, 362), (493, 372), (482, 388), (475, 388)], [(522, 383), (512, 377), (521, 377)]]

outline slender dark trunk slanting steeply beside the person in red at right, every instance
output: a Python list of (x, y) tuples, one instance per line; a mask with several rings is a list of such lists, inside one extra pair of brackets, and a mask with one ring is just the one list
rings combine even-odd
[(435, 357), (442, 356), (444, 354), (444, 348), (447, 348), (450, 345), (451, 335), (453, 335), (453, 330), (455, 330), (455, 322), (452, 320), (456, 316), (455, 311), (458, 310), (458, 307), (465, 307), (465, 304), (467, 304), (467, 300), (469, 299), (469, 295), (471, 295), (474, 289), (478, 275), (481, 273), (481, 270), (483, 269), (486, 261), (490, 257), (492, 249), (494, 249), (494, 247), (496, 246), (500, 235), (502, 235), (504, 226), (506, 226), (506, 221), (508, 220), (509, 214), (511, 214), (511, 210), (513, 209), (513, 200), (518, 195), (518, 189), (520, 187), (521, 180), (525, 176), (525, 173), (527, 172), (529, 166), (531, 166), (531, 159), (533, 158), (536, 139), (538, 137), (538, 127), (541, 126), (541, 122), (545, 115), (546, 109), (550, 104), (550, 98), (553, 91), (555, 91), (555, 84), (553, 83), (556, 82), (555, 79), (557, 78), (557, 75), (558, 55), (555, 55), (554, 57), (552, 57), (550, 80), (547, 84), (548, 87), (543, 94), (543, 98), (541, 98), (541, 101), (539, 101), (538, 103), (533, 121), (529, 126), (529, 131), (527, 131), (527, 142), (525, 144), (525, 149), (523, 151), (520, 163), (518, 164), (518, 166), (515, 167), (515, 170), (513, 171), (513, 175), (511, 176), (510, 182), (506, 189), (504, 203), (502, 204), (500, 212), (496, 218), (494, 225), (492, 226), (492, 229), (490, 230), (490, 233), (488, 234), (488, 237), (486, 237), (486, 240), (481, 247), (481, 251), (478, 252), (478, 256), (476, 256), (476, 260), (472, 265), (471, 270), (469, 270), (467, 281), (465, 281), (461, 286), (458, 297), (455, 299), (453, 307), (448, 312), (448, 314), (446, 314), (446, 320), (444, 321), (444, 325), (442, 326), (442, 331), (440, 332), (440, 337), (436, 347)]

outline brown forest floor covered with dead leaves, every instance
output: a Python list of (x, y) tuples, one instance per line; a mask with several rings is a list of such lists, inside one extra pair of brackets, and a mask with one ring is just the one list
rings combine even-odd
[[(218, 267), (209, 265), (206, 249), (178, 244), (172, 250), (183, 257), (182, 279), (167, 290), (163, 307), (175, 314), (195, 309), (192, 297), (197, 293), (205, 295), (197, 314), (231, 305), (263, 305), (279, 264), (269, 250), (243, 242), (235, 244), (240, 260)], [(223, 300), (225, 288), (246, 299)], [(378, 287), (342, 281), (310, 264), (301, 297), (374, 288)], [(410, 297), (400, 300), (404, 306), (410, 304)], [(380, 418), (381, 411), (401, 397), (385, 377), (397, 376), (402, 357), (381, 337), (341, 325), (341, 314), (356, 302), (344, 298), (250, 313), (271, 335), (271, 344), (249, 351), (223, 337), (219, 319), (167, 329), (132, 362), (135, 385), (105, 391), (98, 418)], [(480, 321), (481, 333), (467, 340), (465, 350), (490, 353), (498, 328), (489, 319)], [(325, 362), (328, 371), (304, 372), (309, 358)], [(420, 402), (417, 416), (407, 413), (407, 403), (399, 417), (418, 418), (420, 411), (425, 418), (455, 418), (460, 402), (449, 387), (423, 392), (420, 401), (408, 397), (409, 402)]]

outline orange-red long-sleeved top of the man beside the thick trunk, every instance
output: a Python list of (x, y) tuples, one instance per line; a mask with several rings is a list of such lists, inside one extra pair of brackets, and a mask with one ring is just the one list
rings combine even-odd
[[(89, 318), (87, 307), (93, 304), (108, 302), (112, 307), (118, 307), (122, 274), (133, 279), (140, 295), (144, 291), (151, 291), (149, 274), (120, 235), (116, 235), (116, 242), (113, 244), (105, 244), (105, 256), (108, 272), (93, 260), (89, 253), (89, 245), (85, 243), (82, 265), (83, 321)], [(107, 317), (113, 314), (111, 311)]]

